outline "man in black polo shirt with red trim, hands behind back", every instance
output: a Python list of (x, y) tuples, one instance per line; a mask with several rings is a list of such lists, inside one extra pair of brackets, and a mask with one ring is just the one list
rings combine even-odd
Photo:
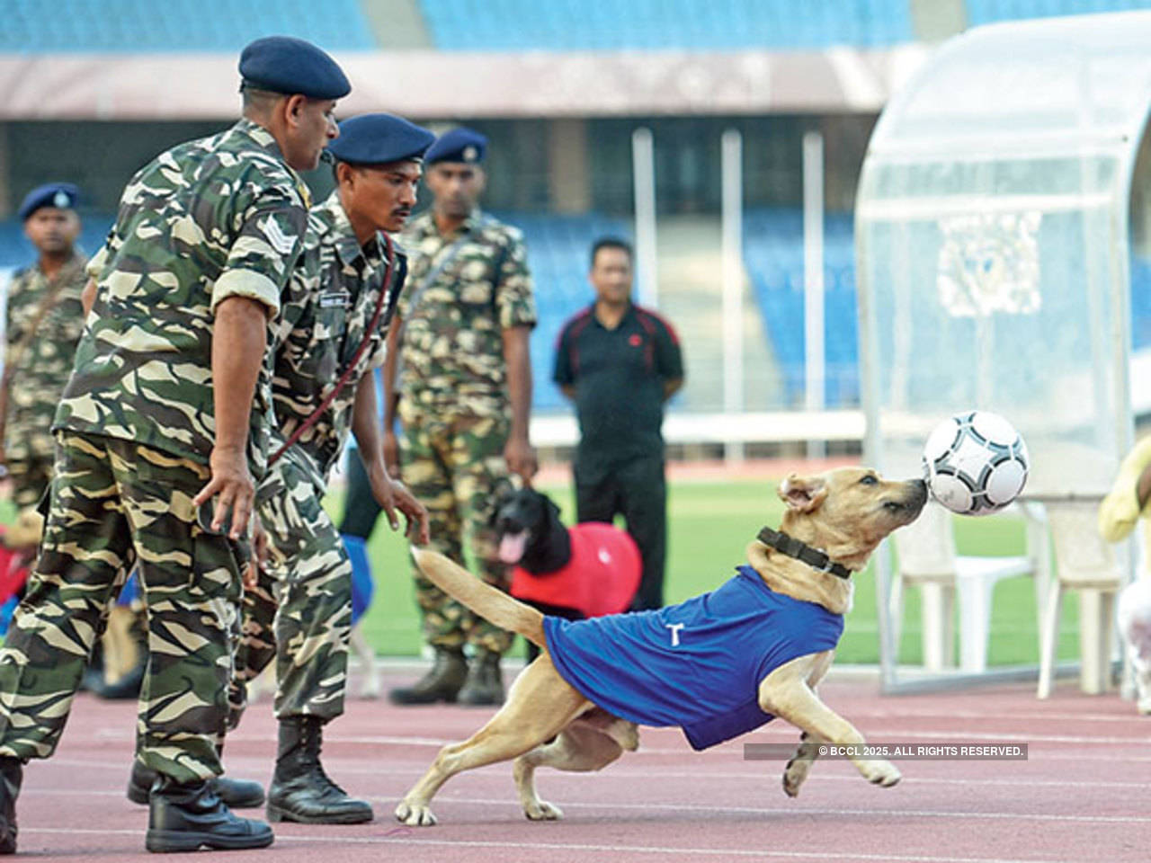
[(663, 405), (684, 385), (684, 360), (671, 324), (632, 303), (632, 247), (615, 238), (592, 246), (595, 303), (564, 324), (555, 381), (576, 403), (579, 521), (622, 513), (643, 558), (632, 608), (663, 605), (668, 490)]

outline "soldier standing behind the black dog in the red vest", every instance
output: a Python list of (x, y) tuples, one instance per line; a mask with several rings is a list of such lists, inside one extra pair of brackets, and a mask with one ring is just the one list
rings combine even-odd
[[(412, 284), (389, 334), (399, 350), (389, 351), (384, 369), (384, 445), (395, 465), (398, 404), (399, 471), (428, 507), (432, 547), (463, 564), (466, 530), (480, 576), (506, 589), (489, 520), (509, 471), (525, 480), (536, 471), (527, 429), (535, 303), (523, 235), (477, 207), (486, 144), (470, 129), (455, 129), (427, 152), (435, 200), (404, 235)], [(435, 663), (414, 686), (394, 689), (391, 700), (502, 703), (500, 657), (512, 634), (448, 597), (418, 570), (416, 589)], [(465, 644), (474, 650), (471, 667)]]

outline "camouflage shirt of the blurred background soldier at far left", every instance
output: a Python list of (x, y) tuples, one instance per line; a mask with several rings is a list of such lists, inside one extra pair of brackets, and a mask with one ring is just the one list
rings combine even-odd
[[(52, 458), (52, 418), (71, 375), (76, 343), (84, 329), (84, 262), (83, 255), (74, 253), (51, 282), (39, 265), (32, 265), (17, 272), (8, 285), (5, 452), (13, 461)], [(36, 323), (49, 290), (55, 290), (55, 297)], [(33, 323), (36, 331), (29, 336)], [(25, 338), (29, 341), (20, 348)]]

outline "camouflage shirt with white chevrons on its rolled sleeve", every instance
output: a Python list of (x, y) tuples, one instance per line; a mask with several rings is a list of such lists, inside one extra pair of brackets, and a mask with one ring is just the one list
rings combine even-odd
[[(55, 428), (207, 464), (215, 438), (216, 305), (249, 297), (266, 305), (269, 318), (276, 314), (306, 220), (306, 186), (272, 135), (247, 120), (142, 168), (89, 264), (96, 305)], [(256, 476), (264, 473), (273, 425), (268, 352), (249, 429)]]

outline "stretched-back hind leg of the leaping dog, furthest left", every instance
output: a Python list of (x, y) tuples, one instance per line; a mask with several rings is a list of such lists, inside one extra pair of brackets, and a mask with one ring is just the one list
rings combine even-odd
[(413, 827), (435, 824), (432, 797), (451, 777), (531, 751), (559, 734), (588, 705), (550, 658), (541, 656), (516, 679), (508, 702), (487, 725), (463, 743), (440, 750), (427, 773), (396, 807), (396, 818)]

